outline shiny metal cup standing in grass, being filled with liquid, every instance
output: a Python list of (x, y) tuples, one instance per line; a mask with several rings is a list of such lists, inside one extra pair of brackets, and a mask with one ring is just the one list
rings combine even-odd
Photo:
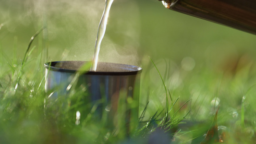
[[(51, 93), (51, 98), (66, 96), (69, 93), (77, 70), (85, 63), (86, 61), (45, 63), (45, 90), (51, 93), (58, 89), (58, 92)], [(125, 125), (129, 125), (127, 130), (131, 132), (138, 121), (141, 72), (140, 67), (133, 65), (98, 62), (97, 71), (79, 75), (75, 87), (84, 90), (87, 104), (95, 104), (103, 99), (104, 102), (98, 105), (97, 110), (100, 117), (107, 111), (110, 125), (124, 121)]]

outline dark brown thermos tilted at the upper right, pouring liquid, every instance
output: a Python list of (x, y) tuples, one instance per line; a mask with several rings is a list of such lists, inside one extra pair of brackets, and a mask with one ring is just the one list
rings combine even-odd
[(256, 35), (255, 0), (159, 0), (176, 12)]

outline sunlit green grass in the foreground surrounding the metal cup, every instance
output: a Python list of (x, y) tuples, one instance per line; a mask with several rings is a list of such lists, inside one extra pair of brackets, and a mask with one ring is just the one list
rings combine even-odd
[[(40, 29), (39, 32), (42, 30)], [(33, 36), (33, 39), (39, 32)], [(83, 90), (71, 89), (72, 92), (67, 94), (68, 98), (59, 96), (53, 102), (50, 100), (50, 93), (45, 93), (44, 90), (45, 76), (42, 75), (44, 68), (37, 65), (43, 61), (42, 57), (38, 56), (35, 59), (31, 55), (36, 48), (30, 49), (33, 39), (30, 40), (22, 61), (12, 60), (12, 63), (8, 63), (9, 68), (5, 69), (6, 71), (1, 70), (1, 143), (147, 144), (161, 142), (199, 144), (213, 122), (213, 114), (217, 106), (220, 106), (219, 132), (225, 133), (225, 144), (253, 144), (255, 141), (254, 85), (249, 88), (243, 87), (243, 90), (247, 89), (244, 96), (238, 95), (232, 99), (230, 99), (231, 96), (227, 97), (241, 84), (250, 85), (250, 83), (246, 83), (252, 78), (249, 79), (247, 75), (249, 69), (241, 70), (228, 78), (225, 78), (223, 74), (216, 76), (214, 73), (208, 73), (207, 70), (201, 71), (199, 72), (201, 77), (194, 79), (192, 83), (199, 82), (204, 87), (197, 87), (197, 89), (196, 86), (192, 87), (191, 95), (193, 96), (186, 99), (181, 98), (183, 96), (177, 96), (175, 91), (178, 90), (174, 90), (172, 87), (168, 88), (166, 85), (170, 77), (168, 72), (164, 72), (163, 77), (157, 64), (150, 59), (152, 68), (149, 69), (158, 73), (159, 91), (161, 91), (160, 89), (164, 90), (162, 93), (164, 96), (155, 95), (154, 90), (149, 91), (146, 99), (143, 98), (143, 95), (141, 96), (138, 126), (134, 133), (127, 135), (126, 131), (123, 131), (125, 126), (109, 127), (109, 123), (104, 117), (99, 118), (95, 114), (97, 103), (91, 105), (82, 101)], [(2, 53), (2, 55), (4, 54)], [(3, 56), (3, 58), (7, 57)], [(29, 65), (37, 65), (37, 69), (31, 68)], [(77, 74), (85, 72), (88, 68), (88, 66), (81, 68)], [(147, 74), (145, 73), (142, 77), (142, 82), (145, 82), (141, 85), (142, 94), (145, 92), (145, 84), (148, 83), (146, 82)], [(247, 80), (241, 79), (244, 77), (248, 77)], [(203, 82), (205, 79), (207, 81)], [(75, 84), (75, 80), (72, 81), (71, 85), (73, 84)], [(217, 86), (213, 91), (212, 85)], [(187, 87), (187, 85), (184, 84), (183, 87)], [(212, 94), (209, 95), (209, 92)], [(179, 93), (182, 94), (182, 91)], [(157, 94), (161, 93), (157, 92)], [(204, 97), (204, 95), (208, 96)], [(206, 102), (210, 102), (208, 99), (210, 97), (212, 102), (207, 104)], [(159, 101), (163, 100), (162, 98), (165, 99), (162, 101), (165, 103), (164, 105)], [(223, 99), (223, 102), (219, 99)], [(237, 101), (239, 99), (240, 101)], [(77, 119), (78, 110), (82, 114), (81, 119), (80, 115)], [(86, 115), (83, 115), (85, 113)], [(241, 136), (237, 137), (237, 133)]]

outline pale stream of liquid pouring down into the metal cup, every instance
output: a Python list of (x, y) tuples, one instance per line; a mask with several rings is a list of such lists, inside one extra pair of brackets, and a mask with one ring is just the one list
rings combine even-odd
[(100, 23), (98, 26), (98, 34), (97, 34), (97, 39), (96, 39), (96, 44), (95, 44), (95, 51), (94, 51), (94, 56), (93, 56), (93, 60), (92, 60), (92, 66), (90, 69), (90, 71), (92, 71), (92, 72), (96, 72), (96, 69), (97, 69), (100, 44), (101, 44), (101, 41), (106, 32), (110, 7), (111, 7), (113, 1), (114, 0), (106, 0), (105, 9), (104, 9), (104, 12), (102, 14), (102, 17), (101, 17), (101, 20), (100, 20)]

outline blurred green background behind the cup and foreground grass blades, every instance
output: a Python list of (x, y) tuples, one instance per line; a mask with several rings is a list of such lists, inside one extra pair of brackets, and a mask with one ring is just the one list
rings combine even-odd
[[(42, 70), (45, 62), (92, 60), (104, 4), (105, 0), (1, 0), (1, 82), (12, 81), (9, 64), (15, 67), (13, 63), (23, 60), (31, 36), (42, 26), (47, 29), (35, 38), (32, 47), (36, 48), (24, 70), (32, 85), (43, 79), (44, 73), (37, 69)], [(239, 129), (234, 125), (241, 125), (244, 117), (255, 137), (255, 48), (255, 35), (173, 12), (158, 0), (114, 0), (99, 61), (143, 68), (141, 112), (149, 99), (145, 119), (164, 109), (166, 98), (151, 58), (172, 98), (180, 96), (175, 107), (193, 98), (179, 116), (190, 111), (190, 119), (212, 120), (208, 116), (212, 116), (215, 104), (220, 104), (220, 124)], [(29, 80), (33, 74), (37, 79)], [(5, 85), (11, 87), (12, 94), (9, 83)], [(0, 85), (0, 96), (6, 89)], [(243, 96), (246, 99), (242, 102)], [(242, 108), (247, 108), (244, 115)], [(249, 135), (246, 132), (243, 134)]]

